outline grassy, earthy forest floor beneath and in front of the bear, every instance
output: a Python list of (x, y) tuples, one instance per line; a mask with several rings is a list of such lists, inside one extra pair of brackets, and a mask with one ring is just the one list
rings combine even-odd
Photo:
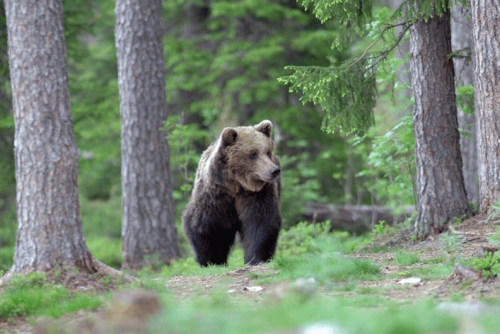
[[(342, 314), (347, 312), (346, 309), (371, 310), (370, 312), (372, 312), (373, 310), (393, 308), (392, 311), (383, 313), (383, 317), (386, 317), (387, 321), (391, 321), (393, 313), (402, 312), (398, 315), (399, 318), (394, 318), (392, 321), (395, 323), (398, 321), (409, 323), (417, 321), (412, 325), (415, 328), (408, 329), (412, 333), (500, 333), (500, 329), (494, 329), (499, 328), (498, 321), (492, 325), (491, 319), (487, 318), (489, 313), (498, 314), (500, 310), (500, 278), (493, 277), (485, 280), (478, 272), (467, 266), (471, 258), (484, 256), (485, 252), (491, 250), (492, 244), (488, 242), (488, 238), (498, 234), (496, 228), (500, 226), (500, 223), (487, 222), (486, 218), (486, 216), (475, 216), (464, 220), (450, 226), (452, 233), (441, 234), (422, 242), (409, 240), (408, 233), (404, 231), (388, 234), (379, 237), (375, 243), (368, 247), (340, 255), (341, 262), (355, 261), (352, 263), (363, 263), (359, 265), (361, 267), (368, 266), (366, 267), (368, 269), (361, 270), (364, 274), (354, 273), (354, 271), (351, 274), (345, 274), (347, 270), (351, 269), (344, 267), (342, 267), (343, 269), (330, 270), (325, 274), (324, 267), (327, 262), (318, 263), (320, 266), (318, 270), (310, 269), (314, 266), (306, 267), (309, 269), (298, 273), (293, 271), (295, 269), (290, 269), (292, 266), (289, 263), (283, 264), (280, 262), (281, 260), (276, 261), (278, 264), (273, 261), (270, 264), (254, 267), (231, 267), (230, 265), (223, 269), (207, 269), (206, 272), (199, 269), (189, 269), (186, 270), (186, 274), (183, 274), (182, 270), (173, 275), (152, 274), (148, 276), (147, 284), (142, 287), (134, 286), (133, 289), (140, 288), (139, 291), (146, 294), (146, 290), (152, 289), (158, 293), (160, 296), (158, 301), (155, 301), (154, 298), (148, 299), (149, 297), (145, 300), (149, 300), (153, 304), (163, 305), (163, 310), (160, 311), (161, 319), (154, 320), (151, 327), (151, 323), (146, 324), (146, 318), (141, 318), (138, 322), (142, 322), (142, 325), (139, 324), (137, 328), (134, 327), (135, 325), (128, 325), (127, 328), (128, 330), (136, 328), (137, 332), (143, 332), (146, 328), (144, 326), (149, 326), (151, 332), (162, 332), (161, 328), (169, 326), (169, 332), (173, 333), (250, 333), (256, 331), (306, 333), (307, 327), (304, 326), (307, 324), (331, 319), (328, 312)], [(390, 247), (387, 248), (387, 245)], [(238, 254), (238, 256), (240, 255)], [(319, 254), (309, 257), (307, 261), (314, 265), (315, 258), (324, 257), (325, 254)], [(374, 262), (378, 268), (377, 273), (371, 273), (368, 262), (359, 262), (363, 260)], [(464, 265), (458, 265), (459, 262), (464, 263)], [(295, 266), (305, 265), (299, 260), (293, 264)], [(104, 333), (107, 330), (103, 328), (109, 327), (103, 327), (105, 326), (103, 323), (122, 321), (120, 316), (115, 316), (116, 312), (121, 311), (110, 311), (113, 305), (116, 307), (116, 303), (112, 301), (111, 292), (103, 292), (100, 288), (94, 290), (97, 291), (97, 294), (105, 296), (103, 297), (105, 301), (93, 310), (68, 312), (57, 320), (47, 320), (47, 318), (40, 320), (39, 317), (33, 316), (9, 317), (8, 319), (0, 317), (0, 332)], [(130, 290), (130, 287), (126, 290)], [(291, 295), (295, 297), (291, 298)], [(126, 298), (133, 299), (134, 297), (128, 296)], [(429, 305), (429, 301), (432, 305)], [(141, 305), (140, 308), (144, 309), (145, 304)], [(436, 315), (436, 308), (451, 307), (456, 309), (457, 305), (459, 305), (459, 315), (455, 316), (449, 324), (451, 326), (449, 328), (452, 330), (443, 331), (442, 328), (448, 328), (446, 327), (448, 323), (439, 323), (439, 321), (444, 320), (437, 318), (446, 318), (446, 316)], [(394, 307), (403, 310), (406, 308), (417, 320), (406, 319), (405, 311), (395, 312)], [(327, 308), (337, 311), (327, 311), (325, 310)], [(418, 312), (414, 308), (417, 308)], [(156, 306), (152, 309), (157, 311)], [(295, 316), (294, 312), (298, 312), (297, 309), (301, 310), (300, 316)], [(454, 312), (453, 310), (448, 311), (448, 313)], [(265, 312), (265, 315), (262, 312)], [(327, 313), (324, 314), (324, 312)], [(464, 318), (460, 312), (465, 312), (467, 316)], [(483, 330), (484, 327), (470, 324), (469, 316), (477, 314), (482, 317), (481, 319), (486, 316), (487, 319), (484, 321), (486, 326), (490, 326), (486, 328), (490, 329)], [(365, 315), (365, 319), (370, 319), (372, 316), (371, 313), (365, 313)], [(267, 319), (267, 316), (270, 318)], [(423, 325), (418, 323), (419, 318), (425, 318), (421, 321), (429, 322), (431, 316), (438, 321), (435, 328), (425, 327), (434, 326), (428, 324), (422, 327)], [(127, 313), (126, 317), (134, 317), (134, 314)], [(247, 319), (247, 317), (253, 319), (252, 324), (241, 327), (239, 323), (247, 321), (241, 319)], [(280, 322), (275, 319), (280, 317), (284, 317), (285, 320)], [(334, 315), (332, 317), (335, 318)], [(350, 317), (349, 314), (345, 315), (345, 319)], [(377, 316), (375, 313), (373, 323), (378, 321), (377, 317), (380, 317), (380, 314)], [(260, 322), (256, 321), (256, 318), (260, 319)], [(231, 319), (240, 319), (241, 321), (238, 324), (233, 324)], [(335, 323), (346, 321), (341, 326), (346, 329), (361, 326), (354, 323), (356, 320), (352, 320), (350, 323), (345, 319), (336, 319)], [(467, 324), (464, 324), (464, 319), (469, 319)], [(2, 320), (6, 321), (2, 322)], [(265, 321), (267, 322), (261, 323)], [(478, 323), (483, 323), (481, 321), (478, 320)], [(75, 325), (76, 323), (79, 324)], [(83, 323), (85, 325), (82, 325)], [(100, 325), (95, 325), (96, 323), (100, 323)], [(55, 325), (50, 327), (47, 324)], [(210, 325), (215, 329), (211, 330), (206, 327)], [(364, 330), (361, 332), (385, 333), (386, 331), (381, 329), (383, 327), (381, 326), (363, 327)], [(387, 325), (384, 326), (387, 327)], [(404, 323), (398, 326), (395, 328), (407, 325)], [(337, 330), (338, 328), (334, 327), (330, 328), (329, 333), (350, 332), (349, 330)], [(50, 328), (56, 328), (56, 330), (50, 331)], [(389, 332), (390, 329), (387, 329), (387, 333)]]

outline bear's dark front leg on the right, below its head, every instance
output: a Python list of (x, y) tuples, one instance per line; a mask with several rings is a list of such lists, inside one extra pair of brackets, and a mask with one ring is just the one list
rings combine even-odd
[(276, 185), (271, 183), (262, 191), (239, 196), (236, 199), (236, 211), (241, 221), (245, 263), (256, 265), (271, 260), (281, 228)]

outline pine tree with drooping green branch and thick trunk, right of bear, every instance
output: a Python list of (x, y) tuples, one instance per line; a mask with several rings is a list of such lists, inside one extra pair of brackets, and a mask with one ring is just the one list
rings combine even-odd
[[(358, 1), (352, 2), (347, 0), (341, 1), (323, 1), (323, 0), (304, 0), (302, 4), (311, 8), (313, 12), (322, 20), (326, 21), (335, 18), (341, 27), (343, 34), (342, 39), (334, 42), (334, 47), (347, 47), (349, 43), (357, 37), (363, 37), (370, 32), (375, 35), (375, 42), (373, 42), (365, 52), (356, 59), (346, 61), (338, 66), (332, 65), (329, 67), (289, 67), (294, 71), (292, 75), (281, 78), (281, 81), (290, 85), (291, 91), (298, 91), (302, 93), (301, 99), (311, 101), (319, 105), (325, 112), (322, 129), (327, 132), (341, 132), (341, 133), (362, 133), (367, 130), (374, 123), (373, 107), (376, 103), (376, 78), (377, 71), (384, 66), (387, 66), (387, 56), (389, 53), (400, 43), (408, 29), (411, 29), (413, 37), (417, 37), (418, 32), (427, 34), (425, 38), (429, 38), (435, 31), (429, 31), (428, 28), (434, 22), (442, 22), (442, 25), (436, 26), (442, 29), (439, 33), (444, 34), (443, 38), (447, 38), (446, 43), (449, 44), (449, 3), (447, 0), (409, 0), (403, 3), (393, 15), (381, 23), (379, 20), (374, 20), (371, 12), (371, 1)], [(401, 20), (402, 22), (398, 22)], [(401, 26), (400, 32), (395, 33), (395, 28)], [(369, 31), (370, 30), (370, 31)], [(448, 33), (447, 33), (448, 31)], [(447, 37), (446, 37), (447, 35)], [(371, 51), (373, 46), (379, 41), (384, 40), (386, 46), (382, 47), (380, 51)], [(444, 40), (443, 40), (444, 41)], [(448, 44), (445, 44), (448, 45)], [(429, 43), (424, 45), (430, 45)], [(448, 45), (449, 46), (449, 45)], [(419, 45), (420, 47), (420, 45)], [(422, 52), (416, 45), (413, 46), (412, 53), (415, 55), (414, 59), (420, 59), (420, 65), (414, 62), (412, 66), (412, 85), (415, 93), (421, 94), (415, 97), (415, 102), (419, 105), (414, 109), (414, 129), (416, 136), (416, 155), (417, 155), (417, 233), (420, 237), (425, 238), (433, 232), (438, 232), (443, 229), (455, 215), (461, 216), (467, 210), (467, 202), (465, 198), (465, 191), (463, 186), (463, 176), (461, 170), (461, 156), (458, 150), (458, 128), (456, 107), (454, 104), (455, 88), (453, 79), (449, 80), (450, 75), (453, 78), (453, 65), (451, 61), (447, 60), (446, 52), (451, 54), (451, 48), (446, 49), (445, 53), (439, 53), (439, 62), (441, 68), (445, 68), (448, 72), (446, 82), (448, 85), (439, 86), (440, 94), (448, 97), (446, 107), (447, 114), (450, 117), (449, 121), (438, 124), (421, 123), (423, 120), (422, 108), (423, 101), (433, 101), (433, 95), (436, 93), (431, 90), (419, 91), (416, 84), (420, 87), (428, 86), (430, 82), (426, 82), (431, 76), (422, 72), (422, 69), (431, 66), (432, 61), (429, 63), (424, 58), (419, 58), (418, 54)], [(432, 51), (430, 51), (432, 53)], [(446, 64), (449, 66), (445, 66)], [(438, 66), (438, 65), (436, 65)], [(450, 67), (451, 66), (451, 67)], [(451, 72), (449, 72), (451, 71)], [(428, 103), (427, 103), (428, 104)], [(433, 118), (436, 111), (431, 109), (426, 113), (431, 113)], [(437, 119), (437, 118), (436, 118)], [(455, 121), (453, 121), (455, 120)], [(444, 139), (440, 136), (433, 136), (433, 147), (438, 147), (441, 151), (449, 153), (449, 161), (443, 162), (439, 159), (438, 151), (434, 149), (429, 151), (426, 145), (419, 145), (419, 137), (431, 135), (434, 132), (432, 129), (444, 126), (445, 133), (452, 134), (452, 140)], [(424, 140), (425, 141), (425, 140)], [(458, 150), (458, 151), (457, 151)], [(423, 159), (418, 159), (421, 157)], [(433, 164), (428, 171), (423, 163), (425, 159), (431, 159)], [(444, 179), (440, 182), (434, 182), (441, 177), (448, 177), (450, 170), (447, 168), (452, 166), (453, 175), (451, 183), (453, 187), (448, 187), (449, 181)], [(439, 169), (443, 169), (438, 173)], [(431, 174), (428, 174), (430, 172)], [(434, 175), (435, 179), (429, 180), (429, 175)], [(433, 181), (434, 180), (434, 181)], [(428, 182), (430, 181), (430, 182)], [(444, 182), (444, 184), (443, 184)], [(442, 196), (443, 198), (439, 198)], [(436, 206), (434, 201), (443, 200), (449, 203), (451, 198), (454, 205), (450, 209), (447, 205)], [(432, 199), (432, 200), (431, 200)], [(432, 228), (433, 226), (434, 228)]]

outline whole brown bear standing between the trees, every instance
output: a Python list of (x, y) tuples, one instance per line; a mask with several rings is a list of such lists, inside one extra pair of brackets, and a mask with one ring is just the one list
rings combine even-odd
[(272, 123), (225, 128), (203, 152), (184, 233), (200, 266), (226, 265), (236, 232), (245, 263), (269, 261), (281, 228), (280, 164), (273, 154)]

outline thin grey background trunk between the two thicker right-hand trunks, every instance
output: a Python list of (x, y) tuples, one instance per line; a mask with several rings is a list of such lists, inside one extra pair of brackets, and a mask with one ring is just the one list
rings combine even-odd
[[(462, 4), (453, 6), (453, 23), (451, 31), (451, 44), (453, 51), (471, 47), (472, 45), (472, 25), (468, 16), (470, 10)], [(472, 64), (463, 58), (455, 58), (455, 84), (466, 86), (473, 84)], [(458, 125), (461, 131), (470, 133), (470, 138), (460, 137), (460, 150), (462, 151), (463, 173), (465, 190), (469, 202), (479, 202), (478, 183), (478, 157), (476, 122), (474, 115), (465, 114), (458, 108)]]

